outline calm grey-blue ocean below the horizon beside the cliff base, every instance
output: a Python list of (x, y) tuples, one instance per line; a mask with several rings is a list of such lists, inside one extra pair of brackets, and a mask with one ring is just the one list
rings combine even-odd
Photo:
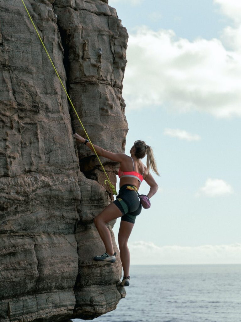
[(241, 264), (131, 265), (125, 289), (117, 308), (93, 321), (241, 322)]

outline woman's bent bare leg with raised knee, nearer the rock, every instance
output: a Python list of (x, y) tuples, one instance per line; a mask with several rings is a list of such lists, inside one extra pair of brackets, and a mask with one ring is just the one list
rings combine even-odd
[(105, 224), (121, 216), (122, 213), (120, 209), (112, 203), (94, 218), (95, 227), (97, 228), (101, 239), (103, 240), (107, 254), (110, 256), (114, 254), (114, 250), (111, 240), (111, 233)]

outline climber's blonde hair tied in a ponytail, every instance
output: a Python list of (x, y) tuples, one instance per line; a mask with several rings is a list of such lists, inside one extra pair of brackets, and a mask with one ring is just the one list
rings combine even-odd
[(152, 147), (146, 145), (146, 142), (141, 140), (135, 141), (134, 147), (136, 149), (135, 156), (138, 159), (142, 159), (147, 155), (147, 175), (150, 172), (150, 167), (157, 175), (159, 175)]

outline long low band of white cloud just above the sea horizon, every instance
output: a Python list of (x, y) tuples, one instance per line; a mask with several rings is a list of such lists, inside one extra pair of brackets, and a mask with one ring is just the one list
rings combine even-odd
[(131, 264), (241, 264), (241, 243), (230, 245), (156, 246), (129, 244)]

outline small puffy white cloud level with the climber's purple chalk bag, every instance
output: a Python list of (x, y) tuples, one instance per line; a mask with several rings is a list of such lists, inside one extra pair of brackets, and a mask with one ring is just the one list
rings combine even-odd
[(206, 194), (210, 197), (224, 195), (224, 194), (232, 194), (233, 188), (227, 182), (221, 179), (207, 179), (205, 185), (199, 189), (199, 192), (196, 196), (200, 194)]

